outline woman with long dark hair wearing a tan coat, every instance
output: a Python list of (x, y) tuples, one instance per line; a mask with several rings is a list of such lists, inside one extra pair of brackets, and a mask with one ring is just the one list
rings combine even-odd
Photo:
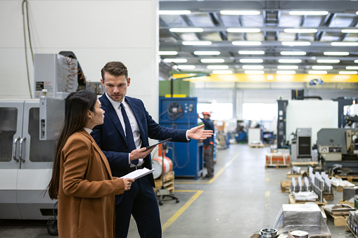
[(65, 99), (48, 186), (58, 199), (59, 237), (114, 237), (115, 195), (130, 189), (133, 179), (112, 177), (110, 166), (91, 137), (103, 124), (104, 111), (95, 93), (79, 91)]

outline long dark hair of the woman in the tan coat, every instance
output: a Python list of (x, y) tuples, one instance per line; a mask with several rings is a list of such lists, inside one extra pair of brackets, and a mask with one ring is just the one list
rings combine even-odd
[(65, 99), (65, 121), (58, 137), (53, 159), (52, 178), (47, 186), (51, 199), (58, 199), (58, 189), (60, 187), (60, 159), (61, 151), (65, 146), (70, 135), (77, 131), (82, 131), (87, 122), (87, 112), (94, 112), (94, 105), (97, 95), (89, 91), (78, 91), (70, 93)]

